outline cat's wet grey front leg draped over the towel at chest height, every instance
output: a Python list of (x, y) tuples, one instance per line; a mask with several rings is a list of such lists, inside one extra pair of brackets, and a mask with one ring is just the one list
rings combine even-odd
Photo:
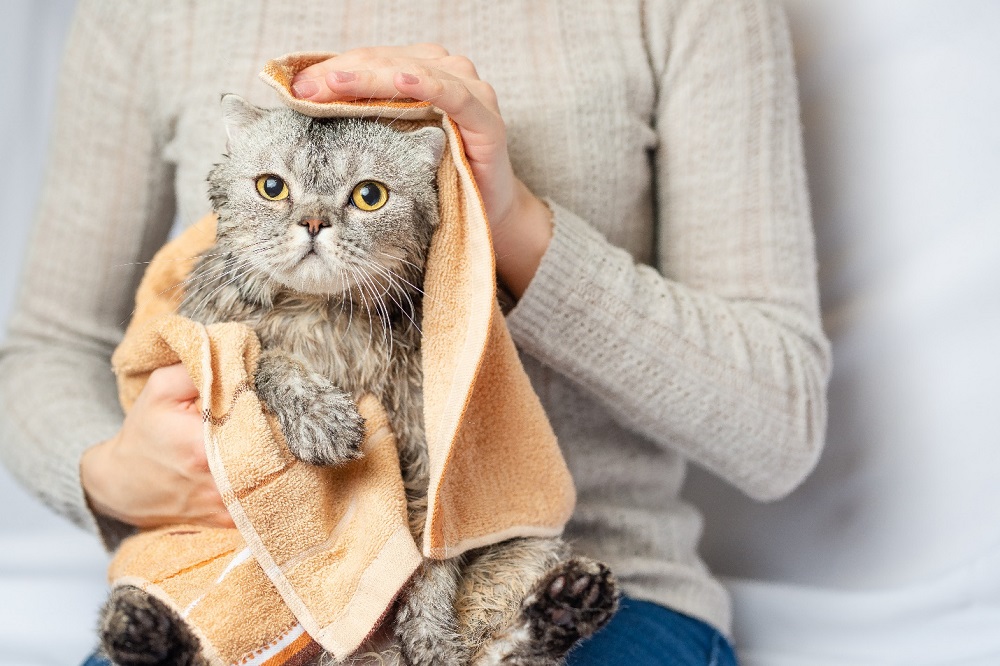
[(337, 465), (361, 456), (364, 420), (351, 396), (326, 377), (269, 350), (258, 361), (254, 388), (299, 460)]

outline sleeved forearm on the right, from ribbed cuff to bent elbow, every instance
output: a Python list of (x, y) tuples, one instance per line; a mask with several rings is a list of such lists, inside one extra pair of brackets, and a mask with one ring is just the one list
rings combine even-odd
[(748, 494), (797, 485), (825, 423), (818, 321), (667, 280), (553, 207), (552, 243), (508, 317), (519, 346)]

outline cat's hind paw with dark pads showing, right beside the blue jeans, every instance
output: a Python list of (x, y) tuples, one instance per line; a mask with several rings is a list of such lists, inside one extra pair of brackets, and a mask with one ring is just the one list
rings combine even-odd
[(618, 587), (608, 567), (586, 558), (557, 565), (521, 606), (535, 649), (562, 656), (603, 627), (618, 609)]

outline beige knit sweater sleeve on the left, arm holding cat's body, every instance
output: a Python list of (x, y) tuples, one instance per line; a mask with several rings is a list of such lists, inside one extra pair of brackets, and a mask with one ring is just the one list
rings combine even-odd
[[(16, 478), (94, 530), (80, 456), (121, 425), (110, 356), (141, 262), (173, 219), (165, 130), (149, 108), (140, 3), (81, 2), (57, 93), (49, 164), (0, 349), (0, 451)], [(106, 541), (120, 525), (101, 521)]]

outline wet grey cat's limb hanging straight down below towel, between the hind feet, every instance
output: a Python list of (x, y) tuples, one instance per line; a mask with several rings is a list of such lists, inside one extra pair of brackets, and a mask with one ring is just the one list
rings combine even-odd
[(455, 594), (462, 558), (425, 560), (396, 611), (396, 637), (413, 666), (461, 666), (469, 662), (458, 633)]

